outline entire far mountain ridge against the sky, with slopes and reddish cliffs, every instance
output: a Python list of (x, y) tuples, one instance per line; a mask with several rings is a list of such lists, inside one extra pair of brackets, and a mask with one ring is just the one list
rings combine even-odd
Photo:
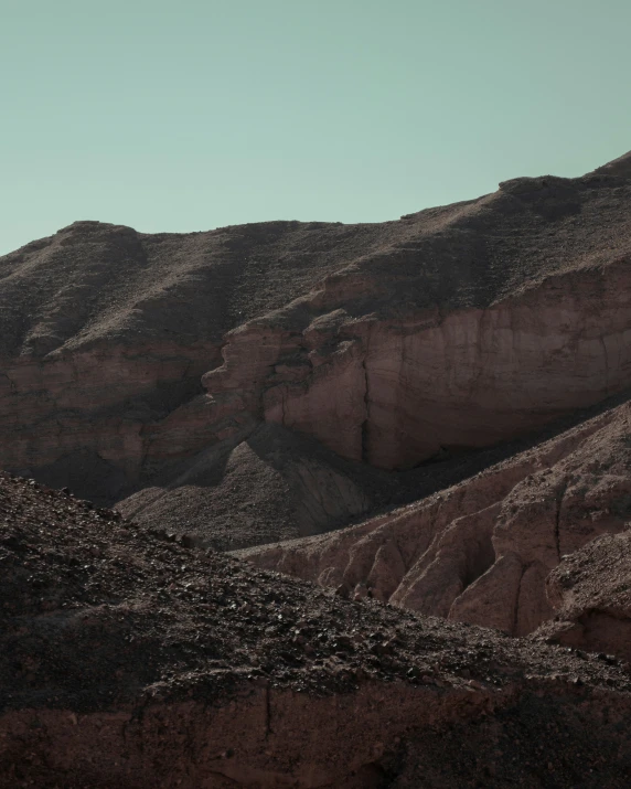
[(630, 386), (630, 237), (629, 158), (383, 224), (76, 223), (0, 258), (0, 466), (221, 547), (336, 527)]

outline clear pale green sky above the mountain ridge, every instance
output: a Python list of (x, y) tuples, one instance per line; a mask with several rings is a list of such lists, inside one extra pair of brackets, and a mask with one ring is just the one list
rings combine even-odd
[(382, 222), (631, 149), (629, 0), (0, 0), (0, 254)]

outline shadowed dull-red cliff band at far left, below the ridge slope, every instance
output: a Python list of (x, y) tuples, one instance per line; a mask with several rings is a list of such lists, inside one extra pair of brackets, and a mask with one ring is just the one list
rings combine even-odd
[(139, 479), (146, 430), (200, 390), (218, 345), (101, 344), (9, 360), (0, 374), (2, 465), (90, 498)]

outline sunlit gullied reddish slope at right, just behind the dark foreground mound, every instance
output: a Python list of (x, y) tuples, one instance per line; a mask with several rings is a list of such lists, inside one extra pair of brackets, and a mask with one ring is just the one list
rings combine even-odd
[(546, 579), (562, 558), (631, 518), (630, 417), (625, 403), (416, 504), (239, 555), (351, 595), (370, 588), (397, 606), (526, 636), (553, 616)]

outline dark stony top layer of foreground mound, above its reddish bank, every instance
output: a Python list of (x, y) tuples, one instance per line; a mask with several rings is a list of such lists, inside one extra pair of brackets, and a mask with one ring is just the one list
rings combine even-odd
[(502, 684), (525, 673), (631, 690), (616, 660), (345, 600), (32, 481), (1, 475), (0, 511), (4, 707), (109, 707), (244, 671), (314, 693), (368, 675)]

